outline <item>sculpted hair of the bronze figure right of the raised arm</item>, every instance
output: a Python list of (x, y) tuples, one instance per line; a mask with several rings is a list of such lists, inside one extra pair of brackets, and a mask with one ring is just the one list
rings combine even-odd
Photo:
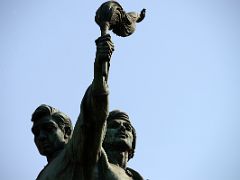
[(132, 134), (133, 134), (133, 143), (132, 143), (132, 149), (129, 152), (129, 156), (128, 156), (128, 160), (130, 160), (131, 158), (133, 158), (134, 156), (134, 152), (135, 152), (135, 148), (136, 148), (136, 130), (135, 128), (132, 126), (129, 116), (127, 115), (127, 113), (123, 112), (123, 111), (119, 111), (119, 110), (113, 110), (109, 113), (108, 118), (107, 118), (107, 123), (113, 119), (123, 119), (127, 122), (129, 122), (130, 126), (132, 127)]

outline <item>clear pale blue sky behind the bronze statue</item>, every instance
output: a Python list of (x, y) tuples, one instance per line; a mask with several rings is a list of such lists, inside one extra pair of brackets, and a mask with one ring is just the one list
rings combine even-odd
[[(104, 1), (0, 1), (0, 179), (46, 164), (31, 114), (46, 103), (75, 124), (93, 78), (94, 22)], [(119, 1), (146, 19), (115, 43), (110, 109), (129, 113), (129, 166), (150, 180), (240, 179), (240, 1)]]

